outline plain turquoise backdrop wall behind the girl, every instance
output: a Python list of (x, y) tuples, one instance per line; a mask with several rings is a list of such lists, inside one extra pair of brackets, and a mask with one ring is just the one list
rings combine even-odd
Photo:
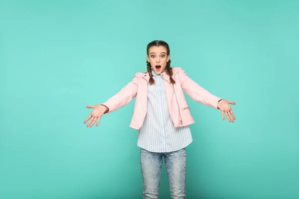
[(0, 0), (1, 199), (142, 198), (135, 100), (83, 121), (146, 71), (155, 39), (236, 102), (229, 123), (187, 97), (187, 198), (299, 198), (298, 0)]

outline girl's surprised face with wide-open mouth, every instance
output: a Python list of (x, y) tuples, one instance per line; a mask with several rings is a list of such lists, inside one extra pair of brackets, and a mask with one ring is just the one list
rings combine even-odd
[(149, 48), (147, 60), (155, 74), (159, 75), (164, 71), (169, 58), (170, 56), (167, 55), (167, 49), (164, 46), (151, 46)]

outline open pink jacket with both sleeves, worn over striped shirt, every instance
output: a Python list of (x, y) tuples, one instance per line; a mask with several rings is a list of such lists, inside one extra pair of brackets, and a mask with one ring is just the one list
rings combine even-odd
[[(172, 70), (172, 78), (175, 81), (174, 85), (170, 84), (169, 76), (165, 72), (161, 73), (161, 76), (164, 79), (164, 88), (170, 117), (175, 127), (186, 126), (194, 123), (194, 119), (190, 113), (190, 108), (188, 107), (183, 91), (197, 102), (218, 108), (218, 101), (221, 100), (221, 98), (213, 96), (208, 91), (200, 87), (187, 76), (182, 68), (175, 67)], [(113, 112), (128, 104), (136, 97), (130, 127), (137, 130), (140, 129), (147, 114), (148, 84), (148, 72), (136, 73), (133, 80), (128, 83), (127, 86), (105, 103), (102, 103), (109, 108), (105, 114)]]

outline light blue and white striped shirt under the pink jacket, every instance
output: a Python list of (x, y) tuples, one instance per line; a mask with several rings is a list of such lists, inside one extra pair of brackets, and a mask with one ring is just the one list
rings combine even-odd
[(151, 152), (171, 152), (192, 142), (190, 127), (175, 128), (166, 101), (163, 78), (151, 71), (155, 85), (148, 86), (148, 112), (138, 131), (137, 145)]

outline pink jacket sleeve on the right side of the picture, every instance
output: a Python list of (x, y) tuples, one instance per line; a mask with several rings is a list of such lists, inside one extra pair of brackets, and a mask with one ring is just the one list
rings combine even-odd
[(222, 100), (222, 98), (212, 95), (207, 90), (199, 86), (188, 77), (183, 69), (178, 68), (178, 70), (181, 87), (190, 98), (205, 105), (218, 108), (218, 101)]

